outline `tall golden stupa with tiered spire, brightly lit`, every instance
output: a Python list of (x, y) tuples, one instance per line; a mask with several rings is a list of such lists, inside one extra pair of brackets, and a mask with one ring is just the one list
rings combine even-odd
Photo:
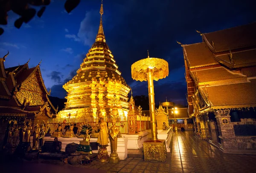
[(58, 117), (106, 116), (110, 114), (113, 105), (119, 109), (119, 114), (128, 112), (127, 95), (131, 89), (121, 76), (106, 43), (102, 4), (99, 13), (101, 16), (96, 41), (76, 71), (76, 76), (63, 85), (68, 92), (67, 102)]

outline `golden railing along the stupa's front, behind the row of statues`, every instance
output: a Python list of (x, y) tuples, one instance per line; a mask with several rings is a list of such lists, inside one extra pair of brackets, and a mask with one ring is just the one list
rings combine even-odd
[[(108, 127), (112, 126), (111, 117), (105, 116), (104, 121), (108, 123)], [(62, 129), (64, 129), (65, 126), (70, 124), (76, 124), (76, 127), (78, 127), (78, 130), (81, 131), (81, 126), (84, 123), (88, 123), (92, 126), (93, 129), (98, 127), (99, 122), (96, 122), (95, 117), (70, 117), (70, 118), (54, 118), (49, 119), (47, 122), (47, 130), (50, 128), (50, 133), (53, 133), (58, 128), (58, 124), (61, 124)], [(119, 126), (119, 131), (122, 134), (128, 133), (128, 122), (126, 116), (119, 116), (116, 118), (116, 126)]]

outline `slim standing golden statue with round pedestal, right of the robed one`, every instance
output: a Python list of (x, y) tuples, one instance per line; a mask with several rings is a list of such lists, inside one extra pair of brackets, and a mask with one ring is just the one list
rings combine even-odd
[(116, 126), (116, 119), (112, 121), (113, 126), (111, 126), (109, 131), (109, 139), (111, 145), (111, 154), (109, 157), (109, 163), (118, 163), (120, 161), (118, 154), (116, 153), (117, 150), (117, 136), (119, 134), (119, 127)]

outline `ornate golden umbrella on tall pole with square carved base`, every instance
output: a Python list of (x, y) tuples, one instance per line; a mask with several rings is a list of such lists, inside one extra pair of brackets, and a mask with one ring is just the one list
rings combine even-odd
[[(148, 58), (131, 65), (131, 77), (134, 80), (148, 81), (149, 112), (151, 116), (152, 139), (144, 142), (144, 160), (166, 160), (166, 142), (157, 140), (157, 121), (155, 115), (154, 80), (166, 78), (169, 74), (168, 62), (160, 58)], [(153, 148), (154, 147), (154, 148)], [(152, 152), (154, 151), (154, 152)]]

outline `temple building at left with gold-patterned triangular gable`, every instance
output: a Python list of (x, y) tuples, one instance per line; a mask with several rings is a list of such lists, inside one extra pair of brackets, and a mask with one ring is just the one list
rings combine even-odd
[[(8, 52), (9, 54), (9, 52)], [(48, 119), (56, 117), (58, 108), (54, 108), (44, 85), (40, 63), (29, 68), (24, 65), (5, 68), (6, 54), (0, 58), (0, 148), (6, 142), (6, 128), (24, 121), (47, 124)]]

